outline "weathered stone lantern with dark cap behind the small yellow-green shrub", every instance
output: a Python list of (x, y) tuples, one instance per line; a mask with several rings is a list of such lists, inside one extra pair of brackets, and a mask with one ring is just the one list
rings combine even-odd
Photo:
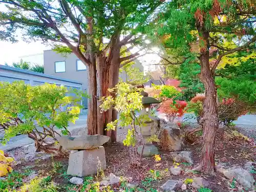
[[(148, 93), (142, 92), (141, 95), (142, 97), (142, 104), (143, 104), (143, 110), (141, 111), (141, 114), (148, 114), (150, 117), (151, 121), (146, 122), (146, 126), (141, 127), (141, 135), (144, 139), (145, 146), (143, 150), (143, 156), (152, 156), (158, 154), (157, 147), (152, 144), (152, 141), (150, 138), (156, 134), (156, 130), (154, 126), (152, 126), (152, 123), (154, 123), (155, 117), (150, 115), (150, 110), (151, 110), (151, 104), (153, 103), (160, 103), (157, 99), (154, 97), (148, 97)], [(141, 153), (143, 145), (138, 146), (138, 154)]]

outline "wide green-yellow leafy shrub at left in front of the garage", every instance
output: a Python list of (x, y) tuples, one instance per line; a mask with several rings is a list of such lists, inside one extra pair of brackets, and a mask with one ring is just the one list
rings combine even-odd
[[(75, 93), (75, 96), (66, 96), (68, 93)], [(78, 118), (82, 95), (80, 91), (68, 91), (66, 87), (56, 84), (33, 87), (23, 81), (1, 82), (0, 125), (5, 130), (2, 142), (6, 143), (17, 134), (28, 134), (36, 141), (41, 137), (51, 137), (56, 142), (55, 136), (59, 135), (56, 128), (67, 135), (69, 121), (75, 122)], [(44, 132), (39, 132), (34, 122), (43, 127)], [(44, 141), (40, 143), (37, 146), (39, 150), (47, 149)]]

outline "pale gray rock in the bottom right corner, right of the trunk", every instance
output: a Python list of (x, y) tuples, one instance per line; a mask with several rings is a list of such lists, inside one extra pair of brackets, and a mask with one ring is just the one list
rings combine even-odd
[(254, 179), (250, 172), (241, 167), (231, 167), (223, 172), (228, 179), (236, 178), (236, 180), (245, 188), (251, 189), (253, 187)]

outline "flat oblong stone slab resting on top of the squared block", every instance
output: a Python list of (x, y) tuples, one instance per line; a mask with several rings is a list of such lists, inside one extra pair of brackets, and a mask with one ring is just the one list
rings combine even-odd
[(110, 140), (105, 135), (85, 135), (82, 137), (66, 137), (59, 139), (59, 144), (66, 150), (93, 150)]

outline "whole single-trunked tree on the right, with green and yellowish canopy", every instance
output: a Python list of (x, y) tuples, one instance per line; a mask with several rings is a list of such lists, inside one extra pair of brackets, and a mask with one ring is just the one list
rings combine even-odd
[[(215, 137), (219, 128), (215, 71), (228, 56), (255, 49), (256, 9), (250, 0), (173, 0), (165, 2), (157, 27), (144, 32), (172, 52), (176, 61), (199, 63), (205, 88), (203, 146), (198, 169), (215, 171)], [(194, 59), (191, 59), (194, 58)]]

